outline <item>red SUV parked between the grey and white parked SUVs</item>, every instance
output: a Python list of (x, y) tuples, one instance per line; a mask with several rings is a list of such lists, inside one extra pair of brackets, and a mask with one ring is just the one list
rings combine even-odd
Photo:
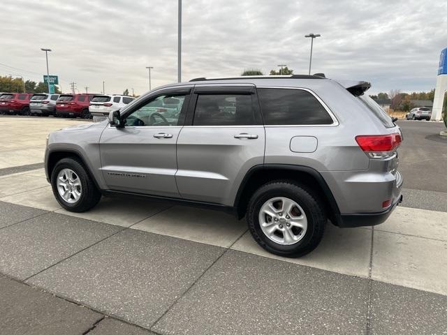
[(57, 117), (90, 119), (89, 105), (94, 94), (61, 94), (56, 102)]

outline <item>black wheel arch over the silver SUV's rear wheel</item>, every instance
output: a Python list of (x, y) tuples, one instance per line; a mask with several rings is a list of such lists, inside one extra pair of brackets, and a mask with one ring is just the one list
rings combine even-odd
[[(279, 177), (278, 177), (279, 176)], [(312, 189), (324, 201), (328, 218), (335, 225), (341, 221), (340, 211), (334, 195), (321, 174), (313, 168), (303, 165), (265, 164), (251, 168), (237, 191), (234, 207), (237, 217), (242, 218), (247, 211), (250, 195), (268, 181), (288, 179), (298, 181), (300, 184)]]

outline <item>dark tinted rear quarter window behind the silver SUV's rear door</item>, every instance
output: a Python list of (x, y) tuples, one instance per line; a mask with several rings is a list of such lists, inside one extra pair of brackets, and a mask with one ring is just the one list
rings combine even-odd
[(323, 105), (302, 89), (258, 89), (264, 123), (270, 125), (332, 124)]

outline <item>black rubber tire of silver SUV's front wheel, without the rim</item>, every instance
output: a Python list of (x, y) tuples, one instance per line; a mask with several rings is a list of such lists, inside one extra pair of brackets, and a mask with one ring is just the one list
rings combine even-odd
[[(82, 187), (80, 199), (73, 204), (66, 202), (64, 198), (59, 195), (59, 191), (57, 190), (57, 175), (61, 170), (66, 168), (73, 170), (73, 172), (78, 175)], [(93, 179), (89, 176), (84, 164), (77, 158), (62, 158), (56, 163), (56, 166), (54, 166), (51, 173), (51, 186), (57, 202), (59, 202), (59, 204), (67, 211), (75, 211), (78, 213), (88, 211), (95, 207), (101, 199), (101, 192), (96, 188), (96, 185), (94, 184)]]

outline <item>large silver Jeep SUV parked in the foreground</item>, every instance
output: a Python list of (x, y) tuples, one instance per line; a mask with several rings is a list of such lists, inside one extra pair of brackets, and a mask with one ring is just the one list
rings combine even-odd
[(142, 195), (247, 217), (263, 248), (298, 257), (339, 227), (382, 223), (402, 201), (400, 128), (367, 82), (317, 75), (198, 78), (159, 87), (108, 120), (51, 133), (57, 201)]

